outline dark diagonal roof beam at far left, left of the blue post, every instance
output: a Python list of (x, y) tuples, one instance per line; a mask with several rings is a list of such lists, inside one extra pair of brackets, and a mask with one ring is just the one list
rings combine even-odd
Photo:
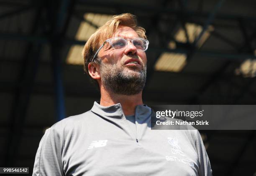
[[(38, 5), (31, 33), (35, 33), (38, 29), (41, 10), (42, 6)], [(13, 166), (15, 162), (14, 158), (18, 153), (20, 134), (22, 133), (23, 125), (25, 124), (30, 95), (37, 72), (38, 55), (40, 50), (40, 44), (36, 43), (36, 45), (33, 45), (33, 43), (30, 43), (26, 49), (25, 55), (23, 56), (23, 63), (20, 66), (16, 83), (17, 86), (13, 90), (14, 96), (9, 118), (10, 131), (8, 134), (8, 144), (6, 149), (6, 166)]]

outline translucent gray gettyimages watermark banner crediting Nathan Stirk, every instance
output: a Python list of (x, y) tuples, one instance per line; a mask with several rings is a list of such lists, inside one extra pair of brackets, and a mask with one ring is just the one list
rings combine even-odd
[(256, 130), (256, 105), (154, 105), (151, 129)]

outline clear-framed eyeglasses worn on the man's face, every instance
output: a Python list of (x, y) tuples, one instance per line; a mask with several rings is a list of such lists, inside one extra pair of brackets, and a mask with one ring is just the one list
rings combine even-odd
[(143, 38), (134, 38), (132, 40), (128, 39), (125, 40), (123, 37), (113, 37), (110, 39), (105, 40), (105, 42), (99, 47), (99, 49), (97, 50), (97, 52), (95, 53), (95, 55), (92, 58), (92, 62), (94, 62), (95, 57), (97, 56), (98, 52), (101, 50), (101, 48), (107, 43), (109, 42), (110, 45), (115, 49), (115, 50), (124, 50), (125, 47), (128, 44), (128, 41), (131, 41), (132, 44), (136, 47), (136, 49), (138, 51), (146, 51), (148, 49), (148, 40), (143, 39)]

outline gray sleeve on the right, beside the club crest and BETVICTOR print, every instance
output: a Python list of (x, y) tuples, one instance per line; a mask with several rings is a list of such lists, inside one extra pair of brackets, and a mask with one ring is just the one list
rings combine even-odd
[(197, 131), (197, 134), (195, 139), (195, 146), (197, 149), (197, 154), (198, 154), (199, 163), (200, 163), (199, 176), (212, 176), (211, 164), (210, 164), (208, 155), (206, 153), (204, 143), (202, 141), (199, 131), (198, 130), (196, 131)]

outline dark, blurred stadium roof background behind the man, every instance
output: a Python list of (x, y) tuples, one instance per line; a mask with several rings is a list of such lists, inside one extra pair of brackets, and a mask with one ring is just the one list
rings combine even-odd
[[(145, 104), (256, 104), (255, 9), (255, 0), (0, 0), (0, 166), (32, 174), (44, 130), (99, 100), (83, 66), (67, 57), (86, 42), (77, 37), (81, 22), (95, 30), (104, 15), (130, 12), (146, 29)], [(191, 35), (188, 24), (200, 32)], [(164, 53), (183, 54), (186, 64), (157, 70)], [(177, 64), (171, 59), (165, 65)], [(256, 175), (255, 131), (200, 133), (214, 175)]]

